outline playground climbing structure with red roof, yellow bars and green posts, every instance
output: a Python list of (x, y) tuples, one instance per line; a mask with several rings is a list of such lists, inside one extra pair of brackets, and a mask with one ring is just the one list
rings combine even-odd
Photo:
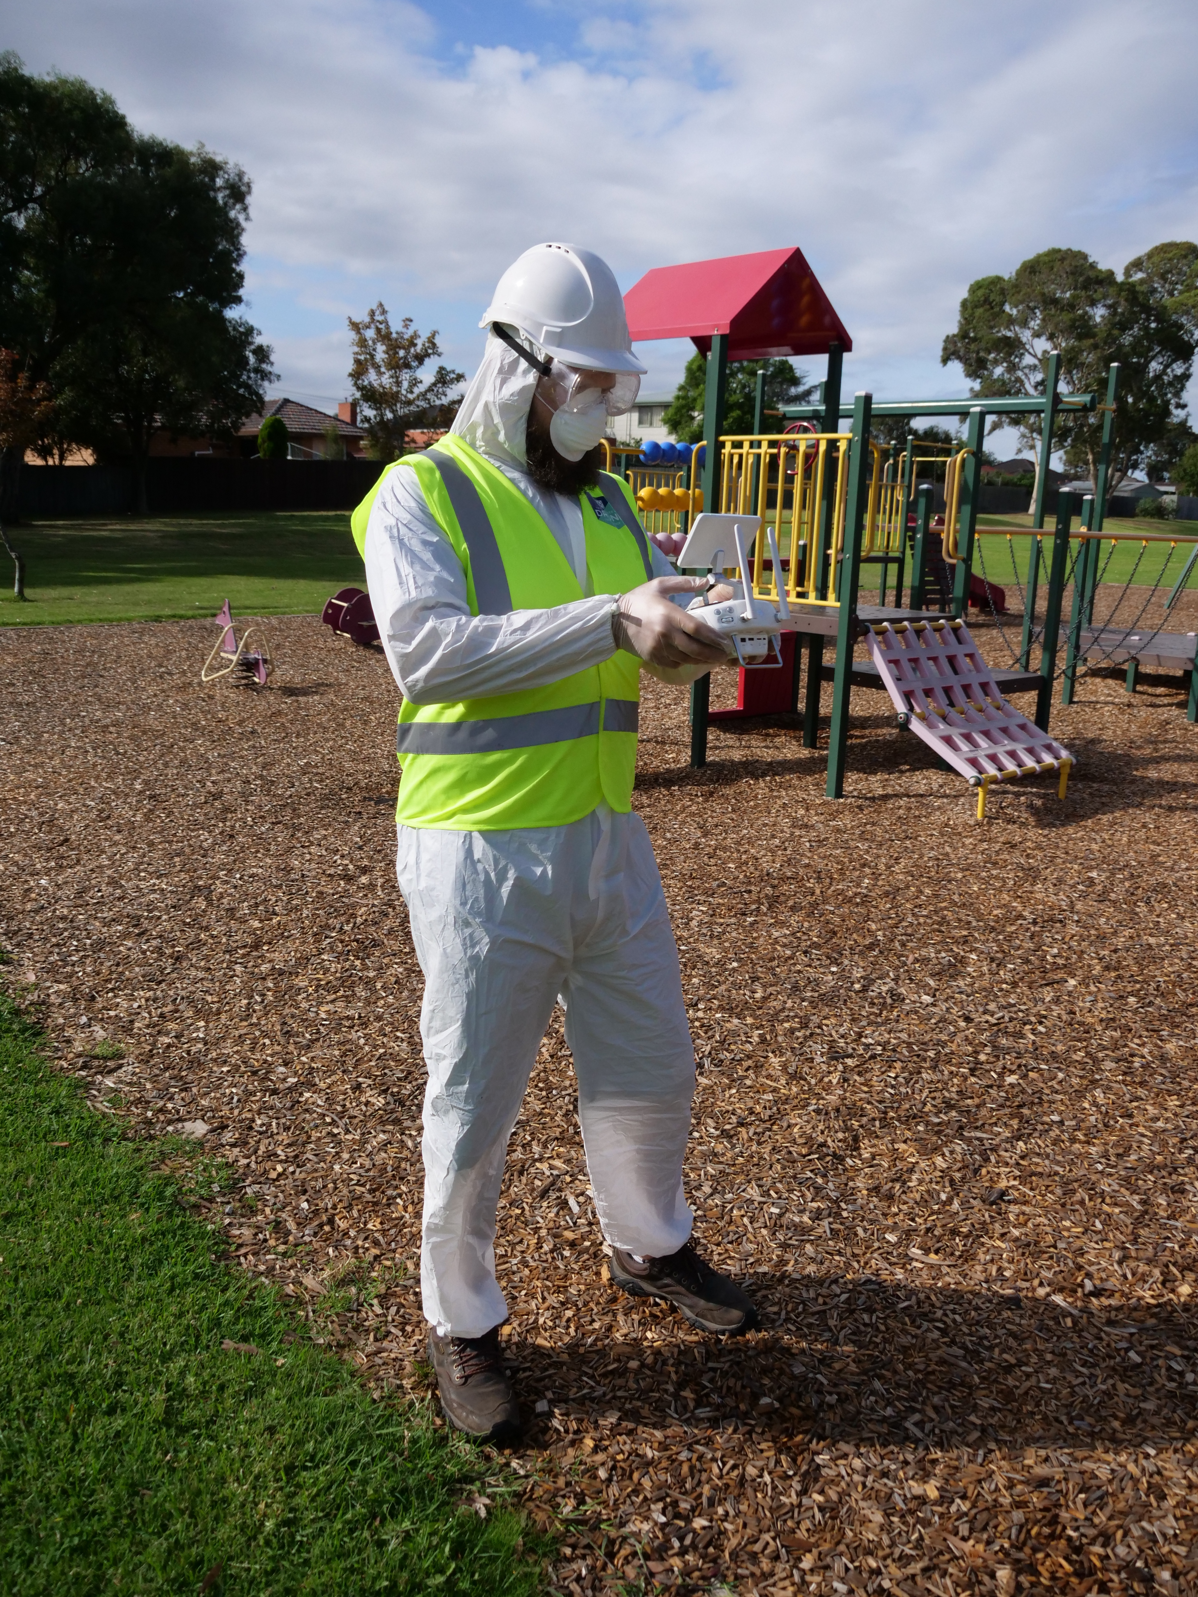
[[(1078, 554), (1073, 565), (1069, 561), (1072, 540), (1080, 538), (1080, 549), (1089, 551), (1097, 548), (1094, 540), (1102, 533), (1118, 367), (1110, 369), (1104, 402), (1099, 402), (1096, 394), (1059, 391), (1057, 355), (1049, 356), (1046, 363), (1043, 394), (888, 401), (875, 406), (872, 394), (859, 393), (851, 402), (845, 402), (840, 398), (842, 361), (845, 351), (851, 350), (851, 340), (797, 249), (658, 268), (629, 289), (625, 303), (634, 342), (685, 335), (708, 356), (704, 441), (693, 449), (685, 471), (676, 473), (677, 481), (668, 484), (669, 498), (661, 489), (658, 489), (661, 497), (642, 497), (644, 489), (657, 484), (641, 481), (637, 485), (636, 473), (644, 470), (644, 463), (634, 458), (625, 462), (625, 474), (634, 485), (637, 501), (661, 517), (650, 532), (657, 535), (658, 543), (663, 537), (676, 540), (685, 533), (692, 516), (703, 508), (724, 514), (760, 514), (762, 530), (754, 540), (749, 554), (751, 572), (746, 575), (754, 596), (773, 602), (784, 596), (792, 616), (792, 628), (783, 639), (784, 669), (776, 672), (743, 669), (735, 709), (711, 711), (709, 677), (701, 677), (692, 687), (692, 765), (706, 763), (711, 720), (797, 712), (805, 664), (802, 706), (805, 747), (816, 746), (821, 684), (829, 677), (834, 684), (826, 792), (831, 798), (840, 798), (845, 783), (851, 688), (885, 688), (896, 707), (899, 699), (895, 693), (899, 690), (906, 703), (899, 680), (891, 679), (893, 674), (888, 676), (887, 671), (888, 660), (898, 658), (893, 656), (893, 640), (885, 648), (877, 645), (877, 637), (883, 634), (874, 629), (888, 628), (893, 637), (902, 637), (895, 631), (901, 624), (944, 621), (949, 623), (949, 636), (960, 639), (960, 623), (970, 604), (989, 610), (995, 620), (1005, 613), (1005, 591), (990, 581), (986, 572), (974, 575), (974, 557), (984, 565), (982, 537), (1005, 533), (1027, 537), (1029, 529), (998, 527), (981, 533), (978, 529), (982, 442), (987, 420), (992, 417), (1038, 415), (1045, 460), (1053, 452), (1059, 415), (1101, 410), (1104, 425), (1096, 492), (1080, 505), (1075, 505), (1072, 495), (1061, 493), (1056, 527), (1048, 538), (1043, 532), (1048, 476), (1046, 473), (1040, 476), (1030, 529), (1033, 557), (1024, 594), (1024, 639), (1021, 648), (1014, 652), (1010, 669), (987, 668), (984, 680), (978, 680), (981, 698), (987, 698), (984, 690), (989, 690), (989, 698), (994, 699), (1002, 699), (1003, 692), (1035, 692), (1035, 717), (1029, 727), (1046, 739), (1057, 677), (1065, 679), (1062, 698), (1069, 703), (1080, 666), (1089, 663), (1094, 668), (1099, 655), (1115, 658), (1121, 650), (1137, 647), (1134, 628), (1117, 631), (1115, 636), (1110, 636), (1107, 628), (1104, 636), (1102, 628), (1093, 626), (1096, 556)], [(827, 378), (821, 383), (815, 404), (783, 407), (781, 415), (792, 430), (786, 433), (764, 430), (764, 374), (759, 374), (754, 431), (743, 436), (724, 433), (727, 369), (732, 361), (818, 353), (827, 356)], [(914, 438), (907, 439), (906, 449), (883, 447), (871, 438), (875, 415), (901, 417), (909, 422), (917, 417), (966, 415), (968, 428), (963, 444), (942, 454)], [(842, 418), (850, 420), (848, 431), (840, 430)], [(920, 466), (930, 462), (944, 470), (946, 503), (939, 527), (934, 525), (933, 485), (918, 481)], [(1075, 530), (1073, 517), (1078, 509), (1081, 525)], [(767, 533), (773, 535), (779, 549), (776, 561), (767, 553)], [(910, 559), (910, 607), (902, 608), (907, 559)], [(947, 562), (952, 562), (950, 567)], [(880, 567), (879, 605), (866, 605), (859, 597), (863, 567), (871, 564)], [(1037, 628), (1035, 607), (1041, 567), (1046, 570), (1046, 615), (1043, 626)], [(891, 570), (896, 604), (887, 607)], [(938, 573), (941, 583), (934, 581)], [(1073, 577), (1078, 578), (1073, 583), (1075, 613), (1062, 629), (1064, 592)], [(939, 589), (938, 612), (926, 610), (930, 580)], [(1005, 637), (1005, 631), (1002, 636)], [(1147, 652), (1153, 658), (1177, 660), (1182, 669), (1190, 671), (1190, 719), (1195, 719), (1193, 682), (1198, 672), (1193, 671), (1193, 639), (1190, 637), (1188, 644), (1180, 640), (1176, 645), (1177, 652), (1169, 653), (1174, 645), (1161, 644), (1161, 637), (1163, 634), (1153, 634), (1145, 645)], [(832, 639), (835, 656), (826, 664), (824, 648)], [(867, 640), (869, 661), (853, 658), (859, 639)], [(1038, 669), (1032, 669), (1030, 656), (1037, 642), (1040, 661)], [(1065, 671), (1057, 672), (1062, 642), (1067, 661)], [(968, 631), (963, 634), (962, 647), (966, 653), (974, 650)], [(947, 704), (938, 699), (933, 703), (939, 709), (947, 709)], [(952, 699), (949, 703), (955, 704)], [(938, 709), (928, 711), (922, 703), (918, 707), (925, 711), (923, 720), (901, 709), (902, 723), (934, 746), (946, 763), (982, 789), (979, 808), (984, 814), (986, 789), (992, 781), (1014, 775), (1014, 757), (1000, 760), (995, 770), (970, 767), (966, 775), (949, 759), (954, 751), (944, 746), (942, 738), (925, 736), (934, 722), (946, 717), (941, 717)], [(928, 720), (928, 714), (933, 720)], [(1013, 717), (1018, 715), (1011, 706), (995, 714), (1005, 717), (1008, 728), (1014, 725)], [(1030, 739), (1030, 733), (1022, 736)], [(1025, 747), (1032, 751), (1037, 746), (1032, 739)], [(1019, 775), (1049, 768), (1067, 773), (1069, 767), (1064, 763), (1069, 759), (1067, 751), (1049, 754), (1048, 747), (1040, 744), (1038, 752), (1045, 757), (1032, 760), (1029, 752), (1027, 763), (1018, 767)]]

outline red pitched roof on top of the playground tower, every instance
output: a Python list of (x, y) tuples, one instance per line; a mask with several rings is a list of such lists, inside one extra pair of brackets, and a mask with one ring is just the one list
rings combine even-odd
[(625, 310), (633, 343), (692, 339), (708, 355), (712, 332), (727, 332), (730, 361), (827, 355), (837, 340), (853, 348), (800, 249), (655, 267), (625, 294)]

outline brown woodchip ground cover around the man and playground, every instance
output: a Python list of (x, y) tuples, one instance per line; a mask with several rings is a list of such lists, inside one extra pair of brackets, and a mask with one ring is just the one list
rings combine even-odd
[[(426, 1401), (395, 690), (313, 618), (267, 628), (264, 693), (200, 687), (200, 623), (0, 634), (5, 936), (93, 1100), (233, 1167), (228, 1255), (313, 1313), (358, 1270), (326, 1322)], [(497, 1252), (556, 1589), (1198, 1591), (1198, 733), (1142, 682), (1085, 679), (1067, 802), (1005, 787), (984, 827), (880, 696), (834, 805), (787, 727), (714, 727), (690, 771), (650, 685), (688, 1191), (764, 1327), (605, 1282), (554, 1028)]]

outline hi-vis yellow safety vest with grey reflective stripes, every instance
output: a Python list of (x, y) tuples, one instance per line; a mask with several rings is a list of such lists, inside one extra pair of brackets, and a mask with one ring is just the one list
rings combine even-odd
[[(414, 471), (466, 573), (473, 615), (548, 610), (583, 597), (561, 545), (502, 471), (452, 433), (391, 470)], [(382, 484), (353, 513), (359, 551)], [(591, 591), (653, 575), (631, 490), (601, 473), (580, 495)], [(565, 826), (605, 798), (633, 808), (641, 661), (617, 652), (543, 688), (449, 704), (404, 704), (396, 819), (463, 832)]]

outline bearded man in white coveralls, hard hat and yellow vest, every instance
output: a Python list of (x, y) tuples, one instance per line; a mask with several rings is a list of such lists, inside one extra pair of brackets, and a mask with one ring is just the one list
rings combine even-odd
[[(599, 470), (641, 385), (609, 267), (538, 244), (500, 278), (452, 431), (355, 513), (404, 695), (398, 877), (425, 973), (420, 1019), (430, 1354), (449, 1421), (511, 1440), (495, 1209), (508, 1137), (556, 1001), (612, 1279), (719, 1335), (752, 1303), (690, 1244), (682, 1195), (695, 1056), (677, 949), (631, 813), (642, 668), (728, 660), (687, 613), (626, 484)], [(680, 599), (680, 604), (674, 599)]]

